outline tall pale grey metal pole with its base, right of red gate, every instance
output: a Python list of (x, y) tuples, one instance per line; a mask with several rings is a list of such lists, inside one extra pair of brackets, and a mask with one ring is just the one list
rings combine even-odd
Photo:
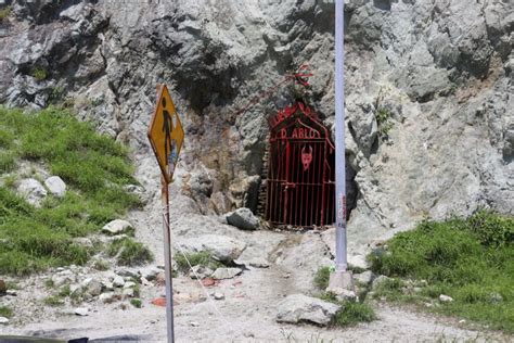
[(345, 169), (345, 3), (335, 0), (335, 272), (329, 289), (352, 289), (351, 272), (347, 271), (346, 250), (346, 169)]

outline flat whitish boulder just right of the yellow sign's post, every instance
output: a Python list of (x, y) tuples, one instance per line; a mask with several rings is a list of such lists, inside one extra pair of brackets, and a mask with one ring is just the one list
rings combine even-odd
[(210, 252), (213, 257), (221, 262), (236, 259), (246, 249), (246, 243), (221, 234), (205, 234), (184, 239), (177, 243), (177, 249), (184, 254)]

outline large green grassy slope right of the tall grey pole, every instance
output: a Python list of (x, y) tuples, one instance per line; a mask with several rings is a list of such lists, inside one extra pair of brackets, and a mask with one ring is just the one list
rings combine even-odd
[(386, 251), (370, 255), (372, 269), (396, 278), (427, 280), (409, 294), (401, 280), (377, 295), (399, 302), (437, 302), (434, 310), (470, 319), (491, 329), (514, 332), (514, 218), (480, 211), (467, 219), (423, 221), (415, 230), (388, 241)]

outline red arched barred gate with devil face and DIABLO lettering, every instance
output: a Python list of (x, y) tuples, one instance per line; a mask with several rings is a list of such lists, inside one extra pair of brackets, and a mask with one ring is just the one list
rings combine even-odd
[(269, 119), (266, 219), (312, 227), (334, 223), (335, 149), (330, 131), (301, 102)]

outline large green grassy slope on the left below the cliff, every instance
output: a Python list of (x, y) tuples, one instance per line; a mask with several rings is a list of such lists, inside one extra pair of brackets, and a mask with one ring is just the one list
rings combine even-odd
[(0, 106), (0, 174), (12, 170), (21, 158), (44, 164), (68, 188), (64, 198), (49, 195), (36, 208), (12, 191), (15, 178), (4, 179), (0, 237), (8, 243), (0, 245), (0, 275), (83, 265), (98, 249), (73, 244), (73, 239), (95, 233), (141, 205), (125, 190), (137, 183), (127, 149), (95, 134), (67, 110), (26, 113)]

